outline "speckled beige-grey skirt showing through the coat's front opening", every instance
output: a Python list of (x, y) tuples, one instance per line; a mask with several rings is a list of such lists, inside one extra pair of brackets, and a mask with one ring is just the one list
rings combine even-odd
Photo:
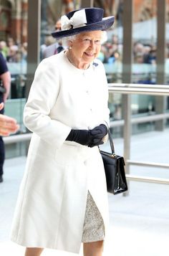
[(90, 191), (87, 194), (87, 206), (84, 218), (82, 242), (97, 242), (105, 239), (105, 225)]

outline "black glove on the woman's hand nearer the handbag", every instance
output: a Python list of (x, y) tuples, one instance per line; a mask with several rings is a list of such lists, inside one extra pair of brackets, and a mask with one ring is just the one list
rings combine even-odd
[(92, 148), (94, 146), (102, 145), (104, 142), (102, 141), (102, 138), (104, 138), (107, 134), (107, 126), (104, 124), (98, 125), (92, 130), (90, 130), (90, 133), (92, 136), (94, 136), (92, 143), (90, 143), (89, 147)]

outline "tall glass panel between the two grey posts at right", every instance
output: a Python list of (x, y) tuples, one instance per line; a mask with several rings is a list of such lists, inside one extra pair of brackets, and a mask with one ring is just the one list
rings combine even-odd
[[(134, 0), (132, 83), (156, 83), (157, 1)], [(132, 95), (132, 114), (154, 110), (154, 97)]]

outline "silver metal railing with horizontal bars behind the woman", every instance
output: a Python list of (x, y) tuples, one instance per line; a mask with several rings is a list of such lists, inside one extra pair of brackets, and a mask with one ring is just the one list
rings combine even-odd
[[(121, 94), (141, 94), (141, 95), (163, 95), (169, 96), (169, 87), (167, 85), (136, 85), (136, 84), (109, 84), (110, 93), (121, 93)], [(156, 177), (148, 176), (134, 176), (130, 174), (130, 166), (148, 166), (148, 167), (160, 167), (164, 169), (169, 169), (169, 163), (154, 163), (154, 162), (143, 162), (143, 161), (132, 161), (129, 156), (130, 152), (130, 125), (131, 123), (145, 123), (147, 121), (155, 121), (169, 118), (169, 113), (149, 115), (146, 117), (140, 118), (130, 118), (130, 111), (125, 115), (125, 120), (115, 120), (110, 122), (110, 127), (122, 126), (125, 124), (125, 133), (124, 136), (124, 157), (126, 161), (126, 176), (128, 180), (131, 181), (147, 181), (160, 184), (169, 184), (169, 179), (160, 179)], [(29, 141), (32, 136), (32, 133), (25, 133), (21, 135), (14, 135), (4, 138), (6, 144), (16, 143), (20, 141)], [(126, 153), (127, 152), (127, 153)]]

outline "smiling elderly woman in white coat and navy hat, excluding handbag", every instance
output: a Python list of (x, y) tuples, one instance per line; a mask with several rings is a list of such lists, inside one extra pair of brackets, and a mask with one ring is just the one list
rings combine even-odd
[(105, 141), (107, 80), (97, 56), (114, 17), (87, 8), (62, 16), (68, 49), (44, 59), (24, 109), (33, 132), (11, 232), (26, 256), (43, 248), (101, 256), (107, 232), (107, 189), (98, 146)]

